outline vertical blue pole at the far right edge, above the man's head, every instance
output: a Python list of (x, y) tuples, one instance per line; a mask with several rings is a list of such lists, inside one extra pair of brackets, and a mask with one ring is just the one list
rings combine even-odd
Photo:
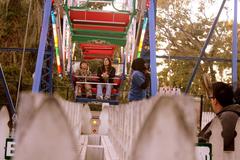
[(232, 86), (233, 91), (237, 90), (238, 87), (238, 22), (237, 22), (237, 12), (238, 12), (238, 0), (234, 0), (234, 21), (233, 21), (233, 44), (232, 44)]

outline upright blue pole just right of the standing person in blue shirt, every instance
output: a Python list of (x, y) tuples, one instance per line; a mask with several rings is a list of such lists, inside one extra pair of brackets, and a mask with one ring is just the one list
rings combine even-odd
[(157, 63), (156, 63), (156, 1), (150, 0), (150, 7), (148, 11), (149, 17), (149, 42), (150, 42), (150, 67), (151, 67), (151, 95), (157, 94)]

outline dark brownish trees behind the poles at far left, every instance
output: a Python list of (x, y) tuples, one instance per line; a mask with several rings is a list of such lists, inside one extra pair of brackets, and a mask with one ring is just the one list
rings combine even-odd
[[(23, 48), (30, 1), (31, 0), (0, 1), (0, 48)], [(43, 2), (42, 0), (32, 0), (26, 48), (38, 48), (42, 26)], [(31, 90), (32, 74), (35, 69), (36, 57), (36, 53), (25, 53), (21, 91)], [(14, 104), (22, 65), (21, 58), (21, 52), (0, 52), (0, 63), (3, 66)], [(60, 81), (61, 80), (56, 79), (54, 82), (59, 84)], [(66, 80), (63, 82), (65, 83), (61, 83), (60, 85), (66, 84)], [(64, 88), (55, 88), (55, 90), (59, 91), (60, 95), (66, 94), (66, 92), (61, 92)], [(2, 96), (4, 96), (4, 94), (0, 93), (0, 100)]]

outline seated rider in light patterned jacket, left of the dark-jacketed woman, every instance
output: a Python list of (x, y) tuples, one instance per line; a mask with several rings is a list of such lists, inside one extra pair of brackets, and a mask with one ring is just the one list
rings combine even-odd
[[(79, 69), (74, 74), (77, 77), (77, 81), (87, 82), (87, 76), (91, 75), (89, 70), (89, 65), (86, 61), (82, 61), (79, 65)], [(84, 87), (86, 92), (86, 97), (92, 97), (92, 87), (88, 83), (76, 84), (75, 86), (75, 95), (82, 96), (82, 88)]]

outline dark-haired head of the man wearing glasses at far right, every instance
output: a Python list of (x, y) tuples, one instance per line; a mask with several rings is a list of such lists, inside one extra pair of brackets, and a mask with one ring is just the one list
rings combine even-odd
[(232, 87), (223, 82), (215, 82), (212, 84), (213, 97), (211, 103), (214, 112), (219, 112), (223, 107), (233, 104)]

